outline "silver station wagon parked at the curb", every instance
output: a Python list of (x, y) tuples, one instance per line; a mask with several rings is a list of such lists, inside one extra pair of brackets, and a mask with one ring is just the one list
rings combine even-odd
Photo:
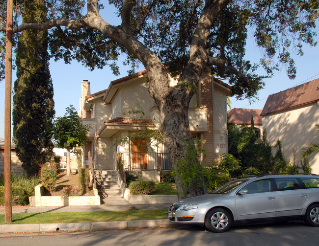
[(174, 223), (202, 224), (213, 232), (232, 224), (304, 220), (319, 226), (319, 176), (269, 174), (228, 182), (211, 193), (172, 204)]

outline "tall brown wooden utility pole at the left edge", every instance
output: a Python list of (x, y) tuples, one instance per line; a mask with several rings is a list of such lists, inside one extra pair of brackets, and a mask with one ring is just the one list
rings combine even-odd
[(13, 0), (7, 0), (4, 91), (4, 222), (12, 222), (11, 201), (11, 83)]

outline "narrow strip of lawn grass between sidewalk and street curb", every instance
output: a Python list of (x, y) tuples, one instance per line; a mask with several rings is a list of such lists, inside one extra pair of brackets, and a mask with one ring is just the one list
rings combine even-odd
[[(167, 209), (12, 214), (9, 224), (50, 224), (167, 219)], [(4, 214), (0, 214), (0, 224)]]

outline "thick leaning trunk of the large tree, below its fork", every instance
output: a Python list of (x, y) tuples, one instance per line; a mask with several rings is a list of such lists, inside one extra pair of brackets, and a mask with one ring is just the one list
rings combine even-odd
[[(180, 90), (179, 90), (180, 91)], [(172, 90), (160, 100), (161, 130), (171, 157), (178, 199), (207, 194), (198, 160), (199, 150), (192, 139), (189, 122), (187, 93)], [(191, 98), (191, 97), (190, 97)]]

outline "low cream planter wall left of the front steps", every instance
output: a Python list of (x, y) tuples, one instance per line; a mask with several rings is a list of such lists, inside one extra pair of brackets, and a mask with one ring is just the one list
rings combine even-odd
[(46, 197), (43, 196), (43, 184), (34, 187), (35, 197), (30, 199), (30, 205), (36, 207), (45, 206), (83, 206), (83, 205), (101, 205), (101, 199), (98, 191), (93, 189), (94, 196), (81, 197)]

